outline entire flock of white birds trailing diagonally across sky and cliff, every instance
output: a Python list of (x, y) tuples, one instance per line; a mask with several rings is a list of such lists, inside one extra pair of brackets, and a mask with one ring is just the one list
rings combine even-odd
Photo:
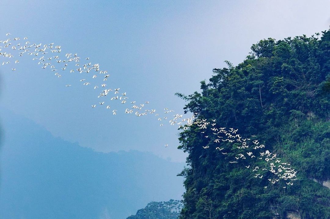
[[(11, 34), (6, 34), (9, 37)], [(110, 78), (110, 74), (106, 70), (101, 70), (98, 63), (92, 64), (89, 61), (89, 57), (81, 58), (77, 54), (66, 53), (65, 56), (61, 56), (61, 46), (54, 45), (54, 43), (49, 43), (42, 45), (41, 43), (30, 43), (27, 37), (24, 37), (23, 40), (20, 37), (16, 38), (7, 38), (1, 40), (0, 44), (0, 56), (7, 58), (6, 61), (0, 62), (0, 66), (13, 64), (12, 71), (16, 71), (15, 64), (19, 63), (19, 60), (15, 58), (29, 55), (33, 61), (36, 61), (38, 65), (41, 66), (44, 70), (49, 70), (54, 74), (54, 77), (61, 78), (62, 75), (65, 76), (66, 73), (78, 73), (80, 76), (79, 81), (84, 86), (91, 86), (92, 89), (98, 89), (99, 95), (98, 104), (91, 105), (92, 108), (104, 107), (106, 110), (111, 110), (113, 115), (117, 114), (117, 110), (113, 106), (116, 104), (130, 105), (125, 109), (125, 114), (135, 114), (136, 116), (147, 116), (153, 115), (159, 122), (160, 126), (164, 125), (164, 121), (169, 121), (170, 125), (176, 126), (179, 129), (186, 130), (192, 125), (197, 125), (201, 129), (201, 134), (204, 134), (203, 137), (210, 138), (215, 140), (210, 140), (212, 144), (204, 146), (204, 149), (214, 147), (214, 143), (219, 144), (215, 145), (215, 150), (219, 151), (221, 156), (224, 156), (226, 159), (227, 154), (231, 152), (232, 145), (225, 143), (241, 143), (241, 146), (236, 146), (238, 149), (243, 150), (240, 154), (237, 154), (234, 160), (229, 161), (228, 165), (239, 165), (241, 163), (249, 163), (251, 159), (264, 159), (268, 166), (265, 168), (259, 168), (255, 166), (250, 168), (250, 165), (243, 164), (246, 168), (252, 169), (252, 173), (255, 174), (254, 177), (257, 179), (263, 179), (263, 176), (266, 176), (267, 172), (273, 174), (273, 177), (267, 180), (270, 184), (275, 184), (280, 180), (284, 180), (286, 186), (293, 185), (293, 181), (297, 180), (296, 173), (293, 168), (290, 167), (290, 163), (281, 161), (281, 158), (278, 158), (276, 154), (271, 153), (269, 150), (265, 150), (265, 145), (260, 144), (257, 139), (254, 139), (256, 136), (251, 136), (251, 138), (243, 138), (240, 134), (237, 134), (238, 129), (234, 128), (225, 128), (217, 127), (215, 119), (207, 121), (206, 119), (197, 119), (195, 115), (192, 115), (190, 118), (182, 118), (183, 115), (175, 114), (174, 110), (164, 108), (160, 112), (156, 109), (150, 109), (149, 101), (143, 103), (136, 103), (136, 101), (129, 101), (129, 97), (126, 92), (120, 90), (120, 88), (109, 88), (107, 81)], [(15, 56), (12, 54), (18, 52)], [(92, 73), (93, 74), (88, 74)], [(71, 85), (66, 85), (70, 87)], [(173, 115), (169, 116), (170, 114)], [(169, 118), (168, 118), (169, 117)], [(206, 135), (205, 133), (212, 133), (213, 136)], [(251, 140), (252, 139), (252, 140)], [(165, 147), (168, 144), (164, 145)], [(248, 162), (245, 162), (246, 160)], [(269, 175), (269, 174), (268, 174)], [(284, 184), (285, 185), (285, 184)], [(283, 186), (283, 188), (286, 188)], [(267, 188), (265, 186), (264, 188)]]

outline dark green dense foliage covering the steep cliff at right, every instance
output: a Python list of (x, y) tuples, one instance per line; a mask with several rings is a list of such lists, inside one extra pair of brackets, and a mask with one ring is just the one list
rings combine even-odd
[(257, 135), (266, 149), (291, 163), (299, 180), (282, 188), (284, 182), (254, 178), (244, 165), (228, 164), (228, 156), (240, 149), (224, 156), (193, 125), (179, 138), (179, 148), (188, 153), (188, 168), (180, 174), (186, 188), (180, 218), (270, 219), (293, 211), (301, 218), (328, 219), (329, 188), (318, 182), (330, 178), (330, 31), (268, 38), (251, 50), (237, 66), (227, 61), (228, 68), (213, 69), (201, 93), (178, 96), (198, 118), (239, 128), (241, 136)]

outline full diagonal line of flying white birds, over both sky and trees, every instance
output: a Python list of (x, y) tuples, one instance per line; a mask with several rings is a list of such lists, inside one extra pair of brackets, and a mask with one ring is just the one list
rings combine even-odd
[[(7, 33), (6, 36), (11, 35), (10, 33)], [(11, 45), (11, 40), (15, 40), (17, 42), (15, 42), (15, 45)], [(70, 72), (72, 74), (70, 74), (70, 77), (72, 77), (71, 75), (75, 75), (75, 73), (90, 73), (90, 72), (99, 72), (99, 74), (103, 74), (104, 77), (97, 77), (96, 74), (92, 74), (92, 79), (93, 82), (91, 82), (93, 85), (91, 87), (94, 87), (94, 90), (96, 90), (97, 88), (99, 88), (97, 85), (101, 85), (102, 89), (104, 89), (103, 87), (108, 86), (104, 83), (104, 81), (109, 80), (110, 81), (110, 74), (108, 74), (107, 70), (101, 69), (100, 65), (98, 63), (86, 63), (87, 61), (85, 60), (89, 60), (89, 57), (85, 58), (84, 62), (82, 61), (83, 59), (81, 59), (77, 53), (66, 53), (63, 54), (63, 56), (61, 55), (61, 46), (60, 45), (54, 45), (54, 43), (47, 43), (44, 44), (44, 46), (41, 43), (33, 43), (32, 40), (30, 40), (32, 43), (30, 43), (27, 40), (27, 37), (24, 37), (24, 41), (19, 41), (20, 38), (19, 37), (15, 37), (13, 39), (6, 39), (6, 40), (2, 40), (0, 41), (0, 43), (3, 43), (4, 46), (0, 48), (0, 58), (4, 58), (4, 59), (10, 59), (12, 57), (14, 57), (15, 54), (12, 53), (18, 53), (19, 57), (24, 56), (24, 55), (31, 55), (34, 58), (32, 59), (32, 61), (34, 60), (38, 60), (36, 62), (36, 64), (40, 64), (42, 66), (43, 69), (45, 69), (45, 71), (48, 71), (48, 69), (50, 69), (52, 72), (53, 71), (58, 71), (57, 69), (62, 69), (63, 72), (63, 78), (65, 76), (67, 76), (67, 72)], [(22, 45), (22, 46), (20, 46)], [(20, 47), (20, 48), (19, 48)], [(5, 51), (2, 51), (5, 50)], [(8, 50), (8, 51), (7, 51)], [(29, 51), (31, 50), (31, 52)], [(34, 50), (34, 51), (33, 51)], [(55, 56), (49, 56), (48, 52), (50, 53), (56, 53)], [(58, 54), (58, 55), (57, 55)], [(62, 57), (61, 57), (62, 56)], [(0, 62), (1, 63), (1, 62)], [(19, 60), (15, 61), (15, 64), (19, 63)], [(79, 64), (81, 63), (81, 64)], [(2, 65), (13, 65), (13, 63), (11, 63), (10, 61), (3, 61)], [(61, 65), (61, 66), (60, 66)], [(16, 65), (19, 66), (19, 65)], [(47, 68), (47, 66), (50, 66), (50, 68)], [(55, 67), (56, 66), (56, 67)], [(78, 67), (76, 67), (78, 66)], [(12, 68), (12, 67), (11, 67)], [(70, 70), (71, 69), (71, 70)], [(12, 68), (12, 71), (15, 71), (16, 68)], [(44, 70), (43, 70), (44, 71)], [(61, 77), (60, 74), (55, 73), (56, 76)], [(78, 74), (77, 74), (78, 77)], [(78, 81), (79, 79), (77, 79)], [(81, 79), (80, 82), (85, 81), (86, 79)], [(94, 83), (95, 82), (95, 83)], [(91, 83), (86, 82), (83, 83), (83, 85), (90, 85)], [(110, 83), (108, 83), (110, 85)], [(112, 82), (111, 82), (112, 84)], [(116, 85), (116, 84), (114, 84)], [(65, 86), (71, 86), (71, 84), (65, 85)], [(86, 89), (89, 89), (88, 87)], [(107, 98), (106, 96), (108, 95), (108, 93), (110, 91), (113, 91), (112, 89), (97, 89), (99, 92), (98, 94), (98, 98)], [(114, 93), (119, 94), (119, 90), (120, 88), (116, 88), (114, 89)], [(125, 99), (128, 99), (128, 95), (126, 94), (126, 92), (121, 91), (122, 96), (114, 96), (112, 97), (110, 100), (117, 100), (120, 99), (120, 101), (115, 101), (115, 104), (119, 104), (119, 102), (121, 102), (121, 104), (126, 103)], [(106, 100), (105, 100), (106, 101)], [(104, 105), (105, 101), (100, 100), (99, 104), (100, 105)], [(136, 101), (132, 101), (130, 102), (131, 104), (136, 103)], [(131, 109), (126, 108), (125, 109), (125, 113), (126, 114), (135, 114), (136, 116), (140, 117), (140, 116), (146, 116), (149, 114), (154, 114), (156, 117), (156, 119), (158, 119), (158, 121), (162, 121), (167, 119), (167, 117), (170, 117), (170, 112), (173, 112), (174, 110), (169, 110), (168, 107), (166, 108), (161, 108), (164, 109), (163, 112), (156, 112), (156, 109), (145, 109), (144, 112), (139, 112), (138, 110), (142, 110), (142, 108), (145, 107), (145, 104), (148, 104), (146, 106), (149, 106), (149, 101), (143, 101), (142, 103), (144, 104), (137, 104), (137, 105), (133, 105), (131, 107)], [(92, 108), (96, 108), (96, 105), (92, 105)], [(101, 108), (104, 109), (104, 108)], [(110, 109), (110, 106), (108, 105), (106, 107), (106, 109)], [(136, 110), (135, 113), (133, 113), (133, 109)], [(99, 110), (96, 109), (96, 110)], [(149, 112), (149, 113), (147, 113)], [(157, 111), (158, 112), (158, 111)], [(116, 115), (117, 110), (114, 109), (112, 111), (113, 115)], [(164, 113), (166, 115), (168, 115), (167, 117), (164, 117), (161, 113)], [(267, 168), (263, 168), (262, 170), (259, 170), (259, 167), (255, 167), (252, 172), (257, 171), (258, 175), (256, 174), (256, 178), (262, 178), (263, 175), (261, 175), (262, 171), (266, 171), (267, 173), (273, 174), (273, 176), (277, 179), (275, 179), (274, 181), (272, 181), (271, 179), (268, 179), (270, 182), (272, 182), (273, 184), (275, 182), (278, 182), (278, 180), (290, 180), (290, 181), (294, 181), (294, 180), (298, 180), (296, 178), (296, 171), (294, 171), (294, 169), (291, 169), (290, 163), (288, 162), (283, 162), (281, 163), (281, 159), (276, 157), (276, 154), (272, 154), (270, 151), (266, 150), (266, 151), (260, 151), (260, 149), (265, 148), (265, 145), (263, 144), (259, 144), (259, 140), (255, 139), (256, 135), (250, 135), (251, 137), (253, 137), (253, 140), (251, 141), (250, 138), (243, 138), (243, 136), (241, 136), (240, 134), (236, 134), (236, 132), (238, 132), (238, 129), (235, 128), (226, 128), (226, 127), (217, 127), (217, 124), (215, 123), (216, 119), (205, 119), (205, 118), (198, 118), (199, 114), (197, 112), (194, 112), (193, 115), (190, 118), (182, 118), (183, 115), (177, 114), (177, 115), (173, 115), (172, 119), (170, 119), (169, 124), (171, 126), (176, 126), (178, 127), (180, 130), (187, 130), (189, 129), (189, 127), (196, 125), (198, 129), (201, 129), (202, 132), (200, 132), (201, 137), (203, 137), (203, 139), (210, 139), (210, 145), (212, 144), (222, 144), (221, 147), (212, 147), (215, 148), (215, 150), (226, 150), (228, 152), (221, 152), (222, 155), (226, 155), (224, 157), (229, 157), (229, 155), (232, 154), (232, 152), (235, 152), (234, 150), (239, 149), (241, 154), (236, 155), (236, 160), (237, 161), (229, 161), (229, 163), (238, 163), (239, 161), (242, 160), (242, 162), (244, 162), (244, 159), (247, 159), (244, 154), (248, 154), (248, 160), (252, 160), (252, 158), (255, 158), (255, 160), (259, 160), (260, 162), (265, 162), (267, 165), (269, 165), (269, 167)], [(180, 121), (181, 120), (181, 121)], [(160, 126), (163, 126), (164, 124), (160, 124)], [(193, 126), (194, 127), (194, 126)], [(217, 138), (213, 138), (212, 136), (216, 135)], [(220, 141), (221, 139), (221, 141)], [(251, 143), (253, 143), (253, 147), (249, 146), (251, 145)], [(240, 145), (237, 145), (240, 144)], [(167, 144), (165, 145), (167, 147)], [(250, 148), (249, 148), (250, 147)], [(208, 149), (210, 148), (210, 146), (203, 146), (204, 149)], [(257, 155), (254, 156), (252, 154), (252, 152), (249, 149), (253, 149), (256, 150), (256, 152), (254, 154)], [(230, 153), (229, 153), (230, 152)], [(229, 154), (228, 154), (229, 153)], [(258, 155), (258, 153), (260, 153), (260, 156)], [(227, 155), (228, 154), (228, 155)], [(237, 153), (236, 153), (237, 154)], [(265, 159), (263, 159), (263, 158)], [(272, 161), (272, 160), (275, 160)], [(252, 161), (253, 162), (253, 161)], [(275, 165), (280, 164), (278, 167), (276, 167)], [(244, 166), (249, 169), (250, 165), (244, 164)], [(240, 165), (242, 168), (242, 165)], [(237, 167), (239, 168), (239, 167)], [(245, 169), (246, 170), (246, 169)], [(246, 171), (250, 171), (250, 170), (246, 170)], [(261, 176), (260, 176), (261, 175)], [(265, 174), (264, 174), (265, 175)], [(293, 184), (293, 182), (286, 182), (287, 185), (291, 185)], [(267, 186), (266, 186), (267, 187)], [(264, 187), (264, 188), (266, 188)], [(284, 187), (283, 187), (284, 188)]]

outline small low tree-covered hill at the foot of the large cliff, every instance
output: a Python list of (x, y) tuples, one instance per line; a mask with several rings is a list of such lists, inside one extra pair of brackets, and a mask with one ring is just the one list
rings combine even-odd
[(182, 203), (178, 200), (150, 202), (127, 219), (178, 219), (181, 209)]

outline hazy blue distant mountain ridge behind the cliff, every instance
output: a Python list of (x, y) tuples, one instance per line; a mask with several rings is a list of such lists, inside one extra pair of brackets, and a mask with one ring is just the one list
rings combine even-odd
[(0, 114), (0, 218), (120, 219), (150, 200), (183, 194), (176, 176), (182, 163), (138, 151), (95, 152), (6, 110)]

